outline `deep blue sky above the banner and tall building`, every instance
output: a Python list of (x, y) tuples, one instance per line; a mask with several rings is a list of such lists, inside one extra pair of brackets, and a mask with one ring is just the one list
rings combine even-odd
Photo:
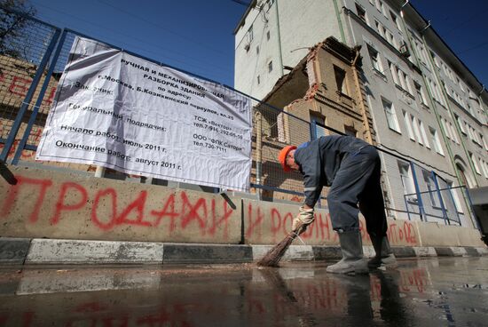
[[(233, 86), (234, 36), (249, 0), (30, 0), (40, 20)], [(291, 1), (291, 0), (281, 0)], [(293, 0), (298, 1), (298, 0)], [(306, 2), (307, 0), (303, 0)], [(488, 1), (412, 0), (488, 88)]]

